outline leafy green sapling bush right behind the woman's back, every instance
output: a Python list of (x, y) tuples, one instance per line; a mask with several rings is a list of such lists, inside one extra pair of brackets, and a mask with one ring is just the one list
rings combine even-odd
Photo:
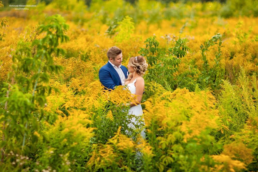
[[(138, 52), (142, 56), (145, 56), (150, 67), (148, 68), (148, 73), (145, 78), (147, 82), (155, 81), (167, 87), (169, 89), (177, 88), (181, 82), (188, 75), (195, 75), (195, 71), (184, 73), (181, 75), (181, 80), (176, 81), (175, 73), (178, 71), (179, 64), (181, 63), (182, 57), (187, 54), (189, 47), (186, 45), (188, 39), (179, 38), (175, 41), (175, 46), (173, 48), (168, 48), (164, 50), (159, 48), (159, 42), (156, 40), (156, 36), (152, 36), (146, 39), (146, 48), (140, 48)], [(187, 83), (193, 84), (193, 82), (185, 82), (184, 86), (187, 87)], [(168, 86), (170, 85), (170, 86)]]

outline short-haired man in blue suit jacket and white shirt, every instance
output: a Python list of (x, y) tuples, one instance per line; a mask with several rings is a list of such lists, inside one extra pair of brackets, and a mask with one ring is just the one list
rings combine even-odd
[(99, 70), (99, 81), (106, 87), (114, 89), (115, 86), (124, 85), (128, 70), (122, 66), (122, 50), (113, 46), (107, 50), (108, 62)]

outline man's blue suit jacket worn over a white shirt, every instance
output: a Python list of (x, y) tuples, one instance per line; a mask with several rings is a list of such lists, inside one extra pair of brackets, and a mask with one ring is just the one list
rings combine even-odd
[[(127, 68), (125, 66), (121, 66), (121, 69), (124, 72), (125, 78), (127, 78)], [(115, 86), (122, 85), (118, 73), (109, 62), (100, 68), (99, 81), (108, 89), (114, 89)]]

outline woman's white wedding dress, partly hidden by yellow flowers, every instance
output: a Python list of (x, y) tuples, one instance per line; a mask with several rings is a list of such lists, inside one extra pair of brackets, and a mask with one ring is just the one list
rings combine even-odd
[[(137, 79), (137, 78), (136, 78)], [(136, 93), (136, 87), (134, 86), (134, 83), (136, 82), (136, 79), (132, 82), (132, 83), (129, 83), (127, 84), (128, 86), (128, 89), (129, 91), (132, 93), (132, 94), (135, 94)], [(136, 106), (133, 106), (133, 107), (130, 107), (129, 111), (128, 111), (128, 114), (132, 114), (132, 115), (135, 115), (135, 116), (142, 116), (143, 112), (142, 112), (142, 106), (139, 104), (139, 105), (136, 105)], [(134, 124), (133, 124), (134, 123)], [(134, 130), (136, 129), (134, 125), (139, 125), (140, 122), (138, 122), (138, 119), (136, 118), (132, 118), (132, 121), (131, 123), (128, 124), (128, 127), (130, 128), (133, 128)], [(141, 124), (144, 124), (144, 122), (141, 122)], [(145, 124), (144, 124), (145, 125)], [(144, 132), (144, 129), (142, 129), (142, 131), (140, 132), (142, 138), (145, 138), (145, 132)]]

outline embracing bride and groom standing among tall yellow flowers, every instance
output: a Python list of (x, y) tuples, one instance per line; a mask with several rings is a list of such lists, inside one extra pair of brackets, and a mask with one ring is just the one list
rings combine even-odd
[[(116, 46), (109, 48), (107, 57), (107, 64), (99, 70), (99, 80), (101, 84), (106, 87), (106, 89), (114, 89), (115, 86), (126, 85), (133, 95), (137, 95), (136, 100), (130, 102), (128, 112), (135, 116), (141, 116), (143, 112), (140, 102), (144, 91), (144, 79), (142, 77), (148, 67), (146, 60), (143, 56), (133, 56), (129, 59), (127, 69), (125, 66), (122, 66), (122, 50)], [(138, 122), (133, 118), (132, 123)], [(130, 128), (134, 128), (132, 123), (128, 124)], [(144, 131), (141, 132), (141, 136), (145, 138)]]

